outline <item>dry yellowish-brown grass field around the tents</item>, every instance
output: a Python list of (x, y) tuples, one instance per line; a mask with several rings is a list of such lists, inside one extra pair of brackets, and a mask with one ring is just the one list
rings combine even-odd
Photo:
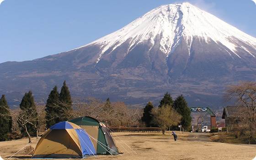
[[(256, 145), (234, 145), (207, 142), (207, 133), (177, 132), (178, 140), (161, 133), (114, 133), (113, 137), (122, 155), (97, 155), (85, 160), (252, 160), (256, 156)], [(196, 135), (198, 134), (198, 135)], [(202, 138), (201, 138), (202, 137)], [(0, 155), (4, 160), (15, 154), (25, 145), (35, 148), (39, 139), (0, 142)], [(130, 147), (128, 147), (128, 146)], [(26, 160), (31, 157), (22, 149), (9, 160)]]

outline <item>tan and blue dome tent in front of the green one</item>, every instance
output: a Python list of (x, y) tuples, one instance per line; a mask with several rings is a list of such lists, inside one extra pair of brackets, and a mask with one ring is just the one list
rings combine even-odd
[(84, 158), (95, 154), (86, 132), (78, 125), (63, 121), (51, 126), (42, 135), (32, 158)]

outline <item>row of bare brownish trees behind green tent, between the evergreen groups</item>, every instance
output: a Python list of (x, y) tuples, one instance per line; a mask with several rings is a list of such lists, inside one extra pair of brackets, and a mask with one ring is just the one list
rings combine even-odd
[(90, 116), (107, 126), (138, 126), (142, 112), (139, 108), (128, 108), (123, 102), (103, 103), (98, 99), (74, 99), (74, 116)]

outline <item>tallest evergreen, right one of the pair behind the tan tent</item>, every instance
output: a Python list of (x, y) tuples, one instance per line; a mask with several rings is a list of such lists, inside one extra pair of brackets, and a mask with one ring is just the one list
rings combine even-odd
[(66, 85), (66, 80), (64, 81), (59, 93), (59, 102), (59, 107), (61, 109), (60, 115), (62, 116), (60, 121), (65, 121), (72, 118), (72, 116), (69, 114), (72, 110), (72, 100), (69, 92), (69, 87)]

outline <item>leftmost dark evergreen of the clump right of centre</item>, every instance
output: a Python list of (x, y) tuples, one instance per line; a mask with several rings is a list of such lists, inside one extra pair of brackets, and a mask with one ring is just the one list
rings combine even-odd
[(154, 105), (149, 101), (149, 103), (143, 109), (143, 116), (141, 117), (141, 121), (146, 124), (146, 127), (153, 126), (153, 111)]

